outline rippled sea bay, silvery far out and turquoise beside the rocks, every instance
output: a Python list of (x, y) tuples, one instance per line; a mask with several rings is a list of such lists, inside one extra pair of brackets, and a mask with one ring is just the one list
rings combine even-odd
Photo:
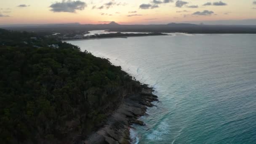
[[(139, 144), (255, 144), (256, 35), (179, 35), (69, 41), (109, 58), (161, 103), (133, 125)], [(137, 140), (136, 140), (137, 139)]]

